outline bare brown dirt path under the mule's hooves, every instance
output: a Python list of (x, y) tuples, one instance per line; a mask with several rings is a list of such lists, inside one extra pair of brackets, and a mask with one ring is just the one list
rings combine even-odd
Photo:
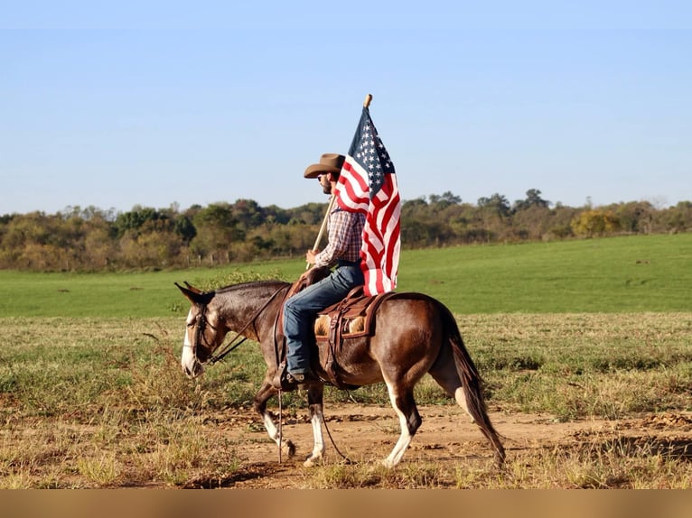
[[(224, 412), (210, 420), (210, 428), (225, 444), (236, 449), (241, 467), (225, 480), (192, 481), (189, 487), (219, 485), (235, 488), (295, 488), (314, 468), (303, 467), (313, 448), (307, 409), (289, 409), (283, 416), (285, 439), (295, 443), (295, 457), (285, 455), (279, 463), (276, 444), (250, 410)], [(453, 405), (421, 406), (423, 424), (397, 468), (413, 463), (447, 467), (491, 469), (492, 453), (481, 431)], [(324, 408), (327, 426), (336, 448), (353, 461), (370, 463), (383, 459), (398, 438), (398, 420), (391, 408), (360, 404), (330, 404)], [(505, 438), (507, 461), (538, 457), (540, 450), (567, 449), (618, 439), (628, 444), (646, 444), (676, 457), (692, 458), (692, 412), (647, 414), (617, 421), (584, 420), (558, 422), (551, 416), (490, 412), (495, 428)], [(594, 439), (595, 438), (595, 439)], [(344, 462), (327, 433), (324, 464)], [(443, 484), (444, 486), (444, 484)], [(454, 481), (449, 481), (454, 486)]]

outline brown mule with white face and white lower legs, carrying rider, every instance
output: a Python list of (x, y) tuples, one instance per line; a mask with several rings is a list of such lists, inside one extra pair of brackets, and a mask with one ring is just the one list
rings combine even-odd
[[(267, 411), (267, 401), (280, 390), (275, 381), (281, 361), (281, 347), (276, 345), (276, 337), (280, 335), (279, 317), (291, 284), (245, 282), (216, 291), (200, 291), (187, 283), (187, 287), (177, 283), (176, 286), (192, 303), (182, 346), (183, 372), (191, 377), (201, 375), (204, 365), (220, 357), (218, 351), (224, 349), (220, 346), (229, 331), (238, 333), (237, 337), (256, 341), (267, 363), (267, 371), (255, 395), (254, 409), (261, 415), (269, 437), (288, 456), (293, 456), (295, 446), (282, 437)], [(451, 311), (427, 295), (397, 293), (396, 297), (379, 305), (374, 319), (371, 336), (344, 339), (337, 361), (344, 384), (358, 387), (384, 382), (387, 385), (401, 431), (383, 464), (386, 467), (398, 464), (421, 425), (414, 386), (427, 373), (478, 425), (490, 442), (496, 466), (501, 467), (505, 451), (500, 435), (488, 416), (481, 376), (463, 345)], [(227, 352), (228, 349), (223, 354)], [(313, 372), (323, 380), (329, 379), (324, 370), (329, 351), (321, 347), (319, 352), (313, 350), (312, 356)], [(306, 388), (314, 439), (312, 453), (304, 461), (306, 467), (320, 462), (325, 450), (323, 390), (323, 383)]]

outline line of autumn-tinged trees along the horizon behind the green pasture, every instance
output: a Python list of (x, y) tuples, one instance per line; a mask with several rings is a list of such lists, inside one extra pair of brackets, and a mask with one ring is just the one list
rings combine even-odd
[[(326, 203), (260, 207), (252, 199), (181, 210), (136, 206), (127, 212), (66, 208), (0, 217), (0, 268), (101, 271), (229, 264), (303, 256)], [(402, 247), (508, 243), (692, 230), (692, 202), (656, 208), (647, 201), (570, 208), (528, 190), (465, 203), (451, 192), (402, 203)]]

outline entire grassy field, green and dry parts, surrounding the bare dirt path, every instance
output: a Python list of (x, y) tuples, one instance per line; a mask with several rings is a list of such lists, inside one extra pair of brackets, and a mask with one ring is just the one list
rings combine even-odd
[[(692, 411), (690, 265), (692, 235), (407, 251), (399, 291), (424, 291), (454, 311), (494, 409), (619, 420)], [(302, 271), (301, 261), (287, 261), (185, 272), (0, 272), (0, 488), (230, 479), (243, 445), (211, 444), (208, 431), (219, 412), (248, 408), (264, 364), (248, 344), (201, 380), (185, 378), (187, 302), (173, 282), (209, 288)], [(388, 404), (382, 385), (328, 389), (325, 399)], [(416, 399), (450, 404), (427, 377)], [(290, 393), (284, 404), (295, 412), (305, 402)], [(510, 461), (505, 478), (451, 476), (463, 487), (692, 488), (692, 442), (678, 439), (686, 453), (676, 457), (649, 447), (607, 455), (556, 449)], [(425, 476), (405, 467), (381, 484), (425, 487), (440, 476), (420, 469)], [(313, 473), (304, 486), (365, 480), (352, 480), (361, 476), (353, 472), (346, 480), (336, 467)]]

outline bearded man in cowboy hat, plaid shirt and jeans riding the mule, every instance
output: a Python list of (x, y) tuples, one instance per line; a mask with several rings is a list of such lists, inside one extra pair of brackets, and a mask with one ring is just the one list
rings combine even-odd
[[(309, 166), (305, 178), (317, 178), (324, 194), (336, 188), (345, 157), (324, 153), (319, 163)], [(314, 343), (313, 325), (317, 312), (341, 301), (353, 288), (363, 284), (360, 270), (365, 215), (348, 212), (336, 204), (329, 214), (328, 243), (324, 250), (308, 250), (305, 259), (315, 266), (336, 266), (332, 273), (297, 292), (285, 301), (284, 335), (286, 338), (286, 375), (282, 386), (291, 390), (317, 379), (310, 367), (310, 347)]]

